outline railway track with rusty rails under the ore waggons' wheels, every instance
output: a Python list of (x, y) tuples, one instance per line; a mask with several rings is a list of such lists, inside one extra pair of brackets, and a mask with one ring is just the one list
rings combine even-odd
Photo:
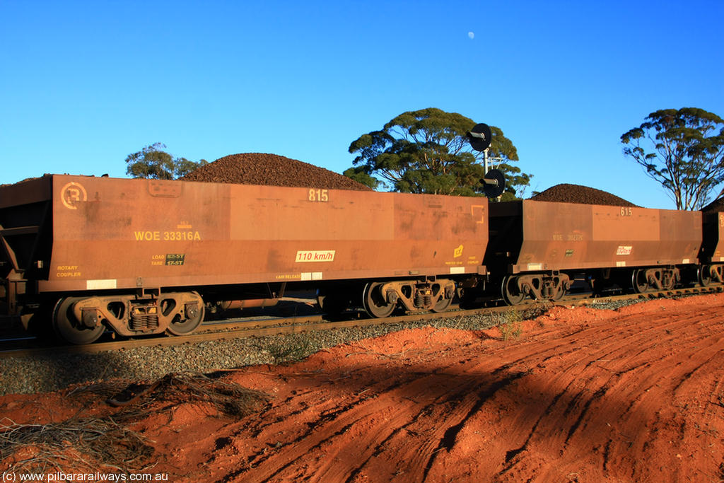
[(505, 313), (508, 311), (539, 311), (542, 307), (578, 306), (602, 301), (628, 301), (628, 300), (651, 300), (654, 298), (672, 298), (689, 295), (702, 295), (708, 293), (721, 293), (724, 286), (710, 287), (687, 287), (674, 290), (662, 290), (650, 293), (628, 293), (594, 297), (591, 293), (579, 293), (568, 295), (556, 303), (541, 301), (526, 301), (516, 306), (501, 305), (499, 302), (492, 302), (492, 305), (481, 308), (461, 309), (454, 308), (443, 313), (405, 314), (390, 316), (384, 319), (363, 318), (360, 312), (351, 312), (350, 317), (342, 320), (324, 319), (324, 314), (305, 314), (295, 316), (277, 317), (252, 317), (239, 319), (225, 319), (220, 321), (204, 322), (199, 329), (191, 335), (174, 337), (144, 337), (138, 339), (111, 340), (88, 345), (56, 345), (48, 342), (41, 342), (36, 337), (25, 335), (13, 335), (12, 337), (0, 338), (0, 358), (24, 357), (41, 355), (48, 351), (54, 353), (100, 353), (105, 351), (127, 350), (139, 347), (172, 346), (182, 344), (202, 343), (211, 340), (229, 340), (238, 337), (264, 337), (270, 335), (295, 334), (300, 332), (311, 332), (316, 330), (342, 329), (350, 327), (369, 327), (382, 324), (403, 324), (407, 322), (424, 322), (435, 319), (449, 319), (464, 316), (490, 315), (494, 313)]

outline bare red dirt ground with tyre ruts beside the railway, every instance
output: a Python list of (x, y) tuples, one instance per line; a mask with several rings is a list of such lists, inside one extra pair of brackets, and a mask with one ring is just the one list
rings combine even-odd
[[(261, 413), (182, 403), (133, 428), (176, 483), (720, 482), (723, 314), (724, 294), (555, 307), (516, 340), (405, 330), (225, 375), (273, 396)], [(0, 398), (16, 422), (47, 421), (43, 404), (78, 411)]]

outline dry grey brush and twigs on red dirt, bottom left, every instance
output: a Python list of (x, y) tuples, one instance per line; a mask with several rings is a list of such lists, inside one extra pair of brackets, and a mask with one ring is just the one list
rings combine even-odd
[(112, 416), (75, 416), (50, 424), (17, 424), (2, 419), (0, 460), (12, 462), (14, 471), (46, 473), (70, 468), (135, 473), (153, 466), (153, 445), (129, 425), (148, 415), (151, 406), (158, 413), (172, 411), (181, 403), (211, 403), (219, 416), (240, 418), (261, 411), (269, 403), (263, 392), (204, 374), (168, 374), (145, 384), (93, 383), (77, 387), (66, 396), (86, 403), (100, 396), (120, 409)]

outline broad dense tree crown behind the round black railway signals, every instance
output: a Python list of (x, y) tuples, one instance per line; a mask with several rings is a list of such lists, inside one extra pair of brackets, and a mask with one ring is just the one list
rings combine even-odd
[[(466, 134), (476, 123), (454, 112), (429, 108), (404, 112), (350, 144), (357, 153), (345, 175), (376, 188), (403, 193), (476, 196), (481, 193), (484, 154), (473, 151)], [(488, 154), (506, 178), (503, 199), (515, 198), (531, 175), (510, 164), (518, 152), (499, 127), (491, 126)]]

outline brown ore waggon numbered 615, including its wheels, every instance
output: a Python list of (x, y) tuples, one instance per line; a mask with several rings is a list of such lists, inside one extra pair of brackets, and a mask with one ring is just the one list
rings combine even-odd
[(670, 290), (702, 246), (699, 211), (524, 200), (492, 203), (489, 217), (484, 264), (511, 304), (559, 299), (576, 277), (594, 291)]

